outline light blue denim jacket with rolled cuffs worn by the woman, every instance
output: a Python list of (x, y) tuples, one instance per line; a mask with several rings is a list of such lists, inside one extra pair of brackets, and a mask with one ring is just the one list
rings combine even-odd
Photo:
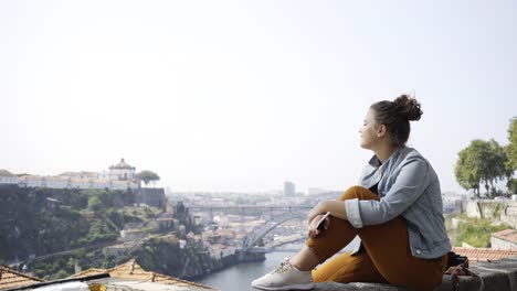
[(414, 257), (433, 259), (451, 250), (440, 181), (428, 160), (407, 147), (397, 150), (383, 164), (373, 155), (359, 184), (369, 188), (377, 183), (380, 201), (345, 201), (348, 220), (354, 227), (382, 224), (401, 216), (408, 223)]

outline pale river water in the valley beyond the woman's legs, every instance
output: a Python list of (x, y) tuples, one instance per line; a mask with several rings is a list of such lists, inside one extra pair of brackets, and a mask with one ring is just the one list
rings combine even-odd
[[(354, 240), (344, 250), (349, 250), (357, 244), (358, 241)], [(293, 257), (296, 254), (294, 250), (302, 247), (303, 245), (286, 245), (276, 251), (266, 254), (264, 261), (235, 265), (197, 281), (222, 291), (256, 291), (250, 285), (251, 281), (272, 271), (284, 258)]]

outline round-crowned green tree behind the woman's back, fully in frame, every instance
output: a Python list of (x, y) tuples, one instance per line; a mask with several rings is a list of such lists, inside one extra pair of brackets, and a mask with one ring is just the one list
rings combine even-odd
[(495, 140), (474, 140), (461, 150), (454, 173), (457, 183), (465, 190), (473, 190), (479, 197), (481, 184), (485, 184), (487, 195), (496, 194), (495, 182), (506, 179), (508, 160), (503, 147)]

